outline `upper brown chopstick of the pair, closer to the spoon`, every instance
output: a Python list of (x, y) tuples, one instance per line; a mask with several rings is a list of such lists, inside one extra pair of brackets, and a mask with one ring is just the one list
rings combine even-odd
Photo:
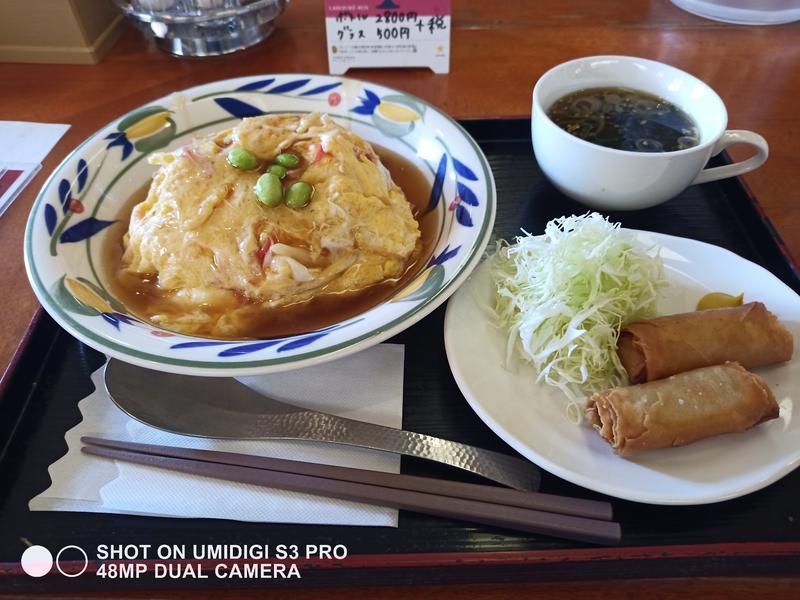
[(383, 473), (380, 471), (369, 471), (367, 469), (321, 465), (296, 460), (236, 454), (233, 452), (195, 450), (193, 448), (160, 446), (156, 444), (139, 444), (137, 442), (123, 442), (95, 437), (82, 437), (81, 441), (90, 446), (103, 446), (105, 448), (130, 450), (132, 452), (157, 456), (202, 460), (224, 465), (238, 465), (240, 467), (253, 467), (256, 469), (295, 473), (297, 475), (311, 475), (314, 477), (324, 477), (326, 479), (351, 481), (353, 483), (380, 485), (395, 489), (464, 498), (466, 500), (503, 504), (505, 506), (530, 508), (532, 510), (541, 510), (562, 515), (599, 519), (601, 521), (610, 521), (612, 518), (611, 504), (608, 502), (598, 502), (596, 500), (584, 500), (582, 498), (539, 494), (536, 492), (520, 492), (518, 490), (490, 485), (432, 479), (430, 477), (416, 477), (414, 475), (397, 473)]

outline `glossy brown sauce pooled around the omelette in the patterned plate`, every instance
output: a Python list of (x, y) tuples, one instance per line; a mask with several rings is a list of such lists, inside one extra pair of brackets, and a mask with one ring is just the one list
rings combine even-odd
[[(370, 286), (358, 293), (344, 296), (328, 295), (308, 302), (283, 306), (279, 309), (262, 309), (242, 299), (243, 305), (253, 306), (253, 319), (248, 323), (246, 334), (240, 338), (273, 338), (313, 331), (349, 319), (384, 302), (399, 288), (408, 283), (425, 266), (433, 251), (439, 230), (435, 212), (423, 214), (428, 204), (430, 183), (412, 162), (399, 154), (374, 146), (384, 166), (389, 169), (395, 183), (403, 190), (412, 204), (412, 212), (420, 225), (421, 238), (409, 259), (404, 275), (399, 280), (386, 281)], [(128, 230), (133, 207), (147, 196), (149, 185), (139, 190), (125, 208), (120, 220), (113, 226), (105, 249), (108, 257), (106, 279), (113, 294), (137, 317), (147, 321), (147, 315), (156, 314), (168, 307), (169, 297), (158, 286), (156, 275), (133, 276), (122, 267), (122, 238)], [(174, 309), (173, 309), (174, 310)], [(201, 335), (201, 334), (195, 334)]]

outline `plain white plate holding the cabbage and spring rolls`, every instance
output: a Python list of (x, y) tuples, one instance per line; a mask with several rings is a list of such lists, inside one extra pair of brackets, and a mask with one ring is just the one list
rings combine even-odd
[(706, 504), (736, 498), (777, 481), (800, 464), (800, 297), (762, 267), (702, 242), (637, 232), (659, 245), (671, 286), (659, 314), (694, 310), (709, 291), (744, 292), (764, 302), (795, 336), (794, 359), (757, 369), (781, 404), (781, 418), (745, 433), (710, 438), (622, 458), (597, 432), (566, 416), (566, 399), (535, 383), (536, 370), (504, 367), (505, 333), (487, 311), (492, 290), (486, 263), (451, 298), (445, 347), (461, 392), (483, 421), (520, 454), (577, 485), (650, 504)]

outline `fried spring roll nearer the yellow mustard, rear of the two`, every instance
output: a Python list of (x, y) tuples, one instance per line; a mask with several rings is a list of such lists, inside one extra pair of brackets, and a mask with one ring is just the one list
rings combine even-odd
[(735, 361), (750, 369), (792, 358), (792, 334), (761, 302), (638, 321), (617, 352), (631, 383)]

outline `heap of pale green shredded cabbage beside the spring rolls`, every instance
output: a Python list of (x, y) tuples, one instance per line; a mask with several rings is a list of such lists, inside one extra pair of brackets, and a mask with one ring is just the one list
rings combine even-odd
[(494, 312), (537, 381), (570, 400), (626, 381), (616, 353), (620, 328), (655, 316), (666, 286), (659, 256), (637, 250), (633, 235), (597, 213), (550, 221), (544, 235), (523, 231), (492, 257)]

